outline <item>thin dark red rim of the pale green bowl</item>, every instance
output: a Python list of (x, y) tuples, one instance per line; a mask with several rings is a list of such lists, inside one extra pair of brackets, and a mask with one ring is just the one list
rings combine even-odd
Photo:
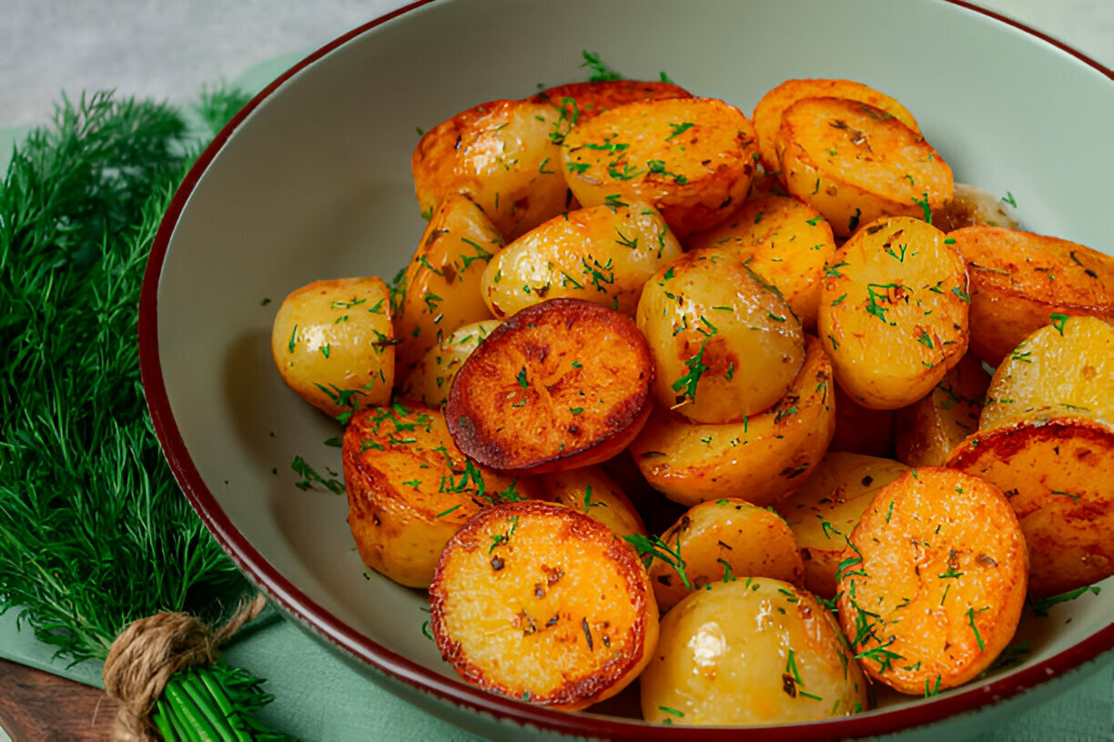
[[(647, 724), (637, 720), (623, 720), (593, 714), (569, 714), (541, 706), (530, 705), (514, 699), (481, 691), (471, 685), (441, 675), (356, 632), (319, 603), (311, 600), (248, 543), (233, 526), (213, 493), (202, 479), (197, 467), (189, 457), (182, 438), (163, 378), (158, 342), (158, 285), (170, 237), (177, 226), (186, 201), (196, 188), (202, 175), (216, 158), (232, 133), (244, 119), (264, 100), (271, 97), (287, 79), (321, 59), (333, 49), (363, 34), (388, 20), (410, 12), (416, 8), (437, 0), (417, 0), (390, 13), (377, 18), (339, 37), (301, 60), (271, 85), (256, 95), (240, 110), (227, 126), (214, 138), (186, 175), (155, 236), (150, 257), (144, 275), (139, 299), (139, 365), (147, 405), (150, 410), (156, 435), (164, 455), (190, 504), (202, 521), (229, 554), (238, 567), (253, 580), (270, 598), (289, 615), (332, 643), (335, 647), (358, 660), (398, 679), (411, 687), (432, 696), (436, 701), (470, 709), (472, 712), (491, 714), (504, 722), (530, 724), (571, 735), (590, 735), (602, 739), (628, 740), (682, 740), (691, 739), (693, 730), (685, 726)], [(1095, 68), (1114, 80), (1114, 72), (1082, 52), (1040, 31), (1018, 21), (979, 8), (964, 0), (945, 0), (988, 18), (1019, 29), (1030, 36), (1065, 51)], [(929, 724), (942, 719), (976, 711), (984, 705), (1032, 690), (1049, 679), (1072, 671), (1100, 654), (1114, 649), (1114, 623), (1107, 624), (1078, 644), (1024, 670), (969, 689), (949, 692), (932, 700), (902, 709), (900, 713), (866, 712), (858, 715), (820, 722), (807, 722), (781, 726), (756, 728), (701, 728), (702, 739), (707, 740), (800, 740), (800, 739), (848, 739), (887, 734), (905, 729)]]

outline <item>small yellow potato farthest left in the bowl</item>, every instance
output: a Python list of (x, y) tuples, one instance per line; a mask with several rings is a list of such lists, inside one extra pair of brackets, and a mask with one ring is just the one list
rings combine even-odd
[(271, 353), (283, 380), (323, 413), (346, 421), (381, 405), (394, 384), (394, 334), (379, 277), (319, 280), (283, 299)]

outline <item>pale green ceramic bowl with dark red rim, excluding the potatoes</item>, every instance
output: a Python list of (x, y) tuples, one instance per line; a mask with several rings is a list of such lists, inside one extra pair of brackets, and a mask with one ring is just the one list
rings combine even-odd
[(422, 633), (423, 594), (360, 562), (344, 497), (294, 486), (295, 456), (322, 473), (340, 471), (339, 449), (323, 445), (339, 426), (284, 386), (271, 324), (299, 286), (390, 278), (410, 258), (424, 226), (410, 176), (417, 129), (486, 100), (585, 80), (582, 50), (629, 78), (665, 71), (746, 113), (788, 78), (867, 82), (911, 109), (957, 180), (1012, 194), (1034, 231), (1110, 249), (1111, 71), (966, 4), (417, 3), (338, 39), (264, 89), (189, 172), (152, 251), (140, 349), (155, 427), (185, 493), (236, 563), (373, 680), (497, 738), (769, 740), (912, 729), (955, 736), (978, 728), (971, 719), (1012, 713), (1005, 700), (1028, 704), (1066, 682), (1051, 681), (1105, 666), (1111, 581), (1098, 595), (1027, 621), (1024, 663), (828, 722), (685, 731), (619, 715), (622, 701), (563, 713), (470, 687), (442, 662)]

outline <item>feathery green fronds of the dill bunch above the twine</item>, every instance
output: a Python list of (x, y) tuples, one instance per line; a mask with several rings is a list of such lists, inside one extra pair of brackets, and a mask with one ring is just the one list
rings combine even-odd
[[(237, 100), (211, 93), (202, 118)], [(246, 587), (177, 487), (139, 379), (147, 254), (202, 136), (164, 103), (63, 99), (0, 184), (0, 612), (72, 663), (136, 619), (216, 620)]]

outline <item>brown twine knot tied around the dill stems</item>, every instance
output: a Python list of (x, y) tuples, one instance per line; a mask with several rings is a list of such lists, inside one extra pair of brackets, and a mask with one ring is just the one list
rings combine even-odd
[(155, 740), (150, 720), (170, 677), (186, 667), (213, 664), (219, 646), (266, 606), (263, 593), (245, 600), (217, 630), (186, 613), (158, 613), (130, 623), (105, 660), (105, 692), (119, 704), (116, 740)]

